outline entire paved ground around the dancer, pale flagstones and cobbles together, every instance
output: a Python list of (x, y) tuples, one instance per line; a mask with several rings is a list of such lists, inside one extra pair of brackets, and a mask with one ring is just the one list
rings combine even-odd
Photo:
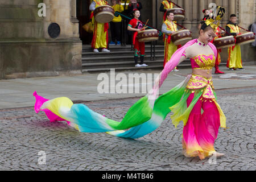
[[(244, 72), (213, 76), (218, 104), (229, 127), (219, 130), (214, 147), (226, 155), (216, 160), (185, 158), (181, 154), (183, 125), (180, 123), (175, 129), (170, 114), (158, 129), (133, 140), (105, 133), (79, 133), (65, 122), (49, 122), (43, 112), (36, 114), (31, 107), (32, 93), (37, 90), (47, 98), (68, 96), (80, 100), (92, 110), (121, 121), (138, 100), (125, 97), (139, 95), (99, 94), (97, 74), (2, 80), (1, 107), (6, 109), (0, 109), (0, 170), (255, 171), (255, 69), (255, 66), (246, 67)], [(175, 86), (188, 72), (184, 69), (171, 73), (163, 90)]]

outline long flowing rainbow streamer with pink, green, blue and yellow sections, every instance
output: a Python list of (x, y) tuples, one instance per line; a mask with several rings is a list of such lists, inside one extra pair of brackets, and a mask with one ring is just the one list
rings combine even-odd
[[(162, 96), (158, 97), (157, 94), (168, 73), (179, 64), (180, 57), (185, 49), (195, 42), (196, 39), (191, 40), (180, 49), (177, 49), (159, 77), (156, 78), (154, 88), (130, 107), (121, 122), (106, 118), (90, 110), (84, 104), (73, 104), (67, 97), (47, 100), (38, 96), (36, 92), (34, 92), (34, 97), (36, 98), (35, 111), (36, 113), (44, 111), (51, 122), (67, 121), (69, 126), (75, 127), (80, 132), (107, 132), (110, 135), (126, 138), (143, 137), (157, 129), (166, 118), (166, 115), (170, 113), (170, 107), (181, 100), (191, 75)], [(209, 46), (212, 47), (216, 55), (217, 51), (213, 44), (209, 43)]]

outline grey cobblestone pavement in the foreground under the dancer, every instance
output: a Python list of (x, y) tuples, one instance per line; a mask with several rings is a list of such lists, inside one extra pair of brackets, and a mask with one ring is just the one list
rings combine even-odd
[[(175, 129), (170, 114), (162, 125), (139, 139), (105, 133), (79, 133), (64, 122), (50, 123), (32, 107), (0, 110), (0, 170), (250, 170), (255, 171), (256, 87), (217, 90), (228, 130), (219, 130), (215, 148), (226, 155), (209, 159), (181, 154), (182, 122)], [(84, 102), (121, 121), (138, 98)], [(102, 103), (103, 102), (103, 103)], [(38, 164), (46, 153), (46, 164)], [(40, 160), (42, 161), (42, 160)]]

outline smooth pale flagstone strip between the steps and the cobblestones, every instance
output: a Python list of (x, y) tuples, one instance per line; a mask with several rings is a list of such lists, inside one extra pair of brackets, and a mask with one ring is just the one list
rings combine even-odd
[[(248, 65), (245, 67), (246, 71), (227, 71), (226, 67), (221, 67), (222, 71), (225, 71), (225, 75), (213, 75), (213, 82), (215, 89), (237, 88), (244, 86), (256, 86), (256, 66)], [(129, 73), (159, 73), (158, 70), (147, 71), (126, 71), (122, 72), (128, 75)], [(120, 72), (115, 72), (115, 76)], [(180, 72), (172, 72), (168, 75), (166, 81), (161, 87), (159, 93), (165, 93), (170, 88), (176, 86), (184, 78), (191, 73), (191, 69), (181, 69)], [(34, 97), (32, 96), (34, 91), (37, 91), (40, 96), (48, 99), (56, 97), (68, 97), (73, 101), (97, 101), (97, 100), (109, 100), (115, 98), (130, 98), (141, 97), (145, 94), (118, 94), (118, 93), (98, 93), (98, 85), (102, 82), (102, 78), (97, 80), (100, 73), (86, 73), (79, 76), (59, 76), (59, 77), (43, 77), (43, 78), (23, 78), (14, 80), (0, 80), (0, 109), (14, 108), (14, 107), (27, 107), (34, 105)], [(110, 73), (105, 73), (110, 79)], [(152, 75), (153, 77), (154, 75)], [(154, 78), (152, 78), (154, 80)], [(112, 79), (113, 81), (113, 79)], [(117, 86), (118, 80), (113, 85), (110, 85), (110, 89)], [(151, 81), (149, 81), (150, 83)], [(113, 83), (113, 82), (112, 82)], [(145, 85), (145, 82), (141, 84), (129, 84), (127, 86), (139, 86)]]

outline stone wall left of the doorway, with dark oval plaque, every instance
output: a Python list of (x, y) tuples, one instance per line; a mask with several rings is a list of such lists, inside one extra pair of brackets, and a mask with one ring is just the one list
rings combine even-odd
[[(38, 16), (38, 4), (46, 16)], [(0, 2), (0, 79), (81, 74), (79, 24), (72, 19), (73, 0)], [(51, 38), (48, 26), (57, 23), (60, 35)]]

